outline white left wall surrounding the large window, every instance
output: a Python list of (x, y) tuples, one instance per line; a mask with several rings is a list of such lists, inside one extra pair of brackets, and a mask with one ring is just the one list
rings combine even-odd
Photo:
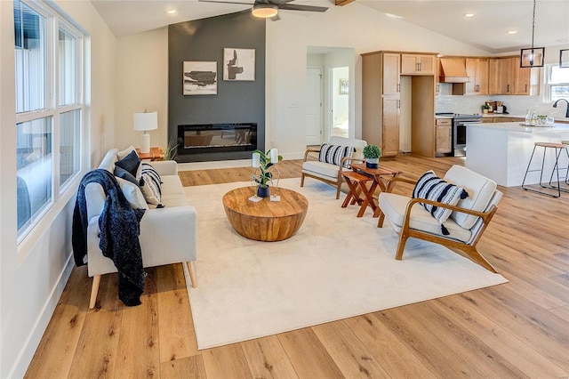
[[(98, 164), (114, 144), (116, 38), (89, 2), (58, 2), (84, 28), (90, 53), (85, 133), (91, 135), (86, 168)], [(0, 1), (0, 377), (21, 377), (60, 298), (72, 269), (71, 215), (75, 193), (69, 191), (17, 246), (16, 145), (14, 114), (14, 36), (12, 2)], [(73, 187), (76, 188), (78, 180)], [(85, 298), (85, 302), (89, 299)]]

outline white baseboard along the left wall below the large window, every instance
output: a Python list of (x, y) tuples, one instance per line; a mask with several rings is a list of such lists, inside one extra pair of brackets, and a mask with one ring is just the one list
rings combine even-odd
[(26, 375), (28, 367), (32, 359), (34, 358), (34, 353), (36, 353), (37, 346), (39, 346), (42, 337), (44, 336), (45, 329), (52, 319), (53, 312), (57, 303), (60, 301), (61, 294), (63, 294), (63, 289), (68, 283), (69, 276), (71, 275), (71, 270), (75, 265), (73, 254), (68, 255), (68, 260), (60, 272), (60, 277), (58, 278), (55, 286), (52, 288), (52, 292), (44, 303), (42, 311), (36, 319), (34, 327), (29, 332), (28, 338), (22, 347), (18, 358), (14, 362), (12, 368), (10, 369), (11, 378), (21, 378)]

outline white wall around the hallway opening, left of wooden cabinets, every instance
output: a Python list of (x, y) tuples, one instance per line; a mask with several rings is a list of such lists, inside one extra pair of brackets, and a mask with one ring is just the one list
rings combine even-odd
[[(302, 157), (304, 145), (304, 88), (307, 46), (338, 46), (355, 49), (355, 80), (350, 117), (355, 117), (354, 135), (361, 135), (362, 52), (378, 50), (442, 52), (485, 55), (445, 36), (403, 21), (390, 19), (357, 2), (331, 7), (325, 13), (305, 17), (287, 12), (278, 22), (267, 23), (267, 127), (268, 141), (278, 141), (285, 158)], [(350, 75), (351, 76), (351, 75)], [(351, 96), (350, 96), (351, 97)], [(289, 107), (297, 103), (298, 108)]]

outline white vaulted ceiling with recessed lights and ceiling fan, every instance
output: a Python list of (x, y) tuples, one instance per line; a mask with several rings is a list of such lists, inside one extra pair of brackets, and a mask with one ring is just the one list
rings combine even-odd
[[(240, 12), (253, 0), (92, 0), (93, 6), (116, 36), (127, 36), (166, 25)], [(532, 42), (533, 0), (355, 0), (377, 12), (389, 13), (488, 52), (511, 52)], [(333, 0), (293, 0), (292, 4), (334, 6)], [(345, 5), (349, 7), (351, 4)], [(178, 12), (167, 14), (176, 9)], [(293, 11), (286, 11), (293, 12)], [(279, 12), (281, 18), (286, 12)], [(474, 13), (467, 18), (466, 13)], [(537, 0), (536, 47), (569, 44), (569, 0)], [(304, 12), (309, 16), (310, 12)], [(517, 34), (509, 35), (509, 30)]]

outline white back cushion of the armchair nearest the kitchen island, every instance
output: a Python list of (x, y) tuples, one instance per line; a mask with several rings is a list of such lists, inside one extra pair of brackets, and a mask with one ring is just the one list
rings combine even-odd
[[(471, 211), (485, 212), (496, 190), (495, 181), (461, 165), (453, 165), (443, 179), (466, 189), (469, 198), (459, 200), (457, 206)], [(453, 212), (450, 218), (465, 229), (472, 229), (478, 219), (475, 215), (459, 212)]]

